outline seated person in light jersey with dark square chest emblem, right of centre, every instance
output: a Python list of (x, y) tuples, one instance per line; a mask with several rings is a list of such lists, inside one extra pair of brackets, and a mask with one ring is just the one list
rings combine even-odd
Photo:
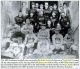
[(52, 42), (53, 42), (53, 53), (60, 53), (64, 51), (63, 44), (63, 36), (59, 34), (60, 29), (55, 29), (55, 34), (52, 36)]

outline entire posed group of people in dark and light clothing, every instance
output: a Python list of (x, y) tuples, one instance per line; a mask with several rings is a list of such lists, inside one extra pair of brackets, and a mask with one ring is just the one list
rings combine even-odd
[(67, 49), (74, 54), (77, 46), (72, 45), (70, 24), (70, 11), (66, 3), (59, 8), (56, 4), (49, 6), (48, 2), (45, 5), (32, 3), (31, 9), (23, 3), (15, 17), (15, 24), (11, 26), (11, 42), (6, 52), (17, 58), (60, 54)]

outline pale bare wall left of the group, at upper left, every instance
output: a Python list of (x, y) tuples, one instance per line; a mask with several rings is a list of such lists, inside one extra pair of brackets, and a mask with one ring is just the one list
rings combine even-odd
[(9, 23), (15, 23), (14, 17), (18, 15), (20, 10), (19, 1), (2, 1), (1, 2), (1, 31), (2, 37), (6, 37), (8, 33), (7, 26)]

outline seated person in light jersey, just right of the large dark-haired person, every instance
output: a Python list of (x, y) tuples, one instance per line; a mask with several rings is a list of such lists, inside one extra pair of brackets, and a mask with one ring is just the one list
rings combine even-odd
[(36, 48), (35, 46), (36, 43), (37, 43), (37, 37), (32, 31), (30, 31), (29, 34), (26, 35), (25, 42), (24, 42), (24, 44), (27, 47), (27, 50), (25, 51), (26, 53), (25, 58), (33, 54), (34, 49)]

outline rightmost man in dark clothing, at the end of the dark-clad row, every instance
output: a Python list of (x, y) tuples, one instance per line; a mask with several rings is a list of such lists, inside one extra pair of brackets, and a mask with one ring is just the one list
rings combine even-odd
[(64, 12), (61, 13), (60, 25), (61, 25), (60, 33), (64, 37), (67, 34), (68, 29), (70, 28), (70, 20), (67, 16), (65, 16)]

